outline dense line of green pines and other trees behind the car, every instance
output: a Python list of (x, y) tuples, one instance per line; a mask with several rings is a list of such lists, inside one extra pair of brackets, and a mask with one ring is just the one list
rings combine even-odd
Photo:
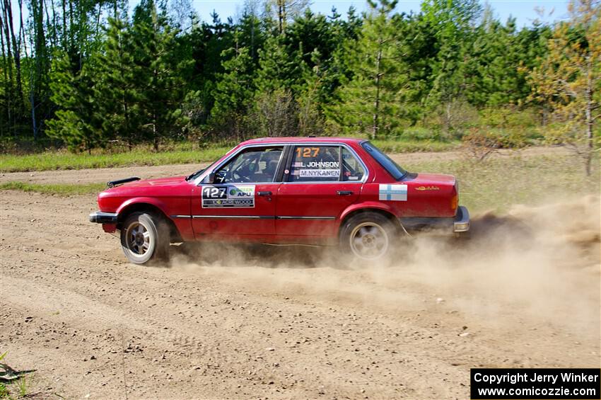
[(590, 156), (598, 135), (594, 0), (523, 28), (477, 0), (424, 0), (409, 14), (368, 0), (345, 16), (266, 0), (226, 21), (200, 21), (189, 0), (141, 0), (131, 15), (124, 0), (0, 1), (3, 143), (450, 139), (522, 118)]

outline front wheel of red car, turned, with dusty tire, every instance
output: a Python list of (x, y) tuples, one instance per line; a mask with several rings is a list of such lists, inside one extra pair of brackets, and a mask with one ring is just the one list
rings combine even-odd
[(154, 214), (132, 212), (122, 224), (121, 247), (129, 262), (134, 264), (167, 260), (169, 239), (167, 224)]

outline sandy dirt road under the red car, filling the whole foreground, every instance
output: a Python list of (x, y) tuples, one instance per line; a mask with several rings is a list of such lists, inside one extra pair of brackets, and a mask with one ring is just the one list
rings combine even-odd
[(148, 268), (87, 221), (95, 196), (0, 197), (0, 352), (30, 393), (466, 399), (470, 367), (600, 365), (599, 198), (479, 217), (468, 244), (417, 238), (387, 265), (204, 246)]

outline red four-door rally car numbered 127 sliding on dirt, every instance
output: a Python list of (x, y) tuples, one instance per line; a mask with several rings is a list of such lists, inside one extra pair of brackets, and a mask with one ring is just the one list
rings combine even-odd
[(136, 264), (185, 241), (336, 244), (373, 260), (413, 229), (469, 230), (455, 177), (407, 172), (363, 139), (252, 139), (190, 176), (108, 185), (90, 221), (119, 230)]

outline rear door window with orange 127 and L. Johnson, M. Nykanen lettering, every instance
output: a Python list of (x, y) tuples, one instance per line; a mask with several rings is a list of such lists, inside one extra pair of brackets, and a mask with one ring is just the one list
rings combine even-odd
[(293, 149), (290, 182), (332, 182), (340, 180), (340, 147), (296, 146)]

